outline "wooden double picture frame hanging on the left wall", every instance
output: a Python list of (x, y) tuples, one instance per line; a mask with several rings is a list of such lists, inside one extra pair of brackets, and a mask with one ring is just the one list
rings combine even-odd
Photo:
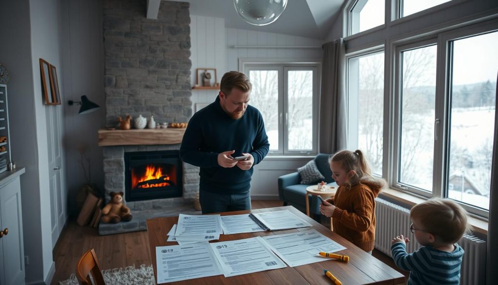
[(43, 103), (45, 105), (60, 105), (59, 81), (55, 66), (40, 58), (40, 75)]

